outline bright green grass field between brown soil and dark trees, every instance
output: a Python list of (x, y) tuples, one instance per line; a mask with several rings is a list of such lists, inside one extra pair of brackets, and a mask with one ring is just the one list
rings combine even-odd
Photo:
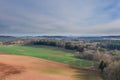
[(0, 46), (0, 52), (43, 58), (79, 68), (87, 68), (93, 65), (92, 61), (74, 58), (71, 52), (49, 47)]

